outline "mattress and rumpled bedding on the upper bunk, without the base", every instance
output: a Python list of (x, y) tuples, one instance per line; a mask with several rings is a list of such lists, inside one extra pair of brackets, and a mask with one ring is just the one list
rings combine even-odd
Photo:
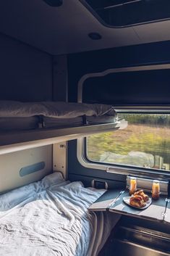
[(111, 105), (67, 102), (0, 102), (0, 130), (60, 128), (116, 122)]

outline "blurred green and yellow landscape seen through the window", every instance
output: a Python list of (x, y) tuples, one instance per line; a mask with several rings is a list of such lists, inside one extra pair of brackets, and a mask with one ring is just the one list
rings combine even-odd
[(170, 114), (121, 113), (124, 130), (87, 138), (87, 157), (94, 162), (170, 171)]

